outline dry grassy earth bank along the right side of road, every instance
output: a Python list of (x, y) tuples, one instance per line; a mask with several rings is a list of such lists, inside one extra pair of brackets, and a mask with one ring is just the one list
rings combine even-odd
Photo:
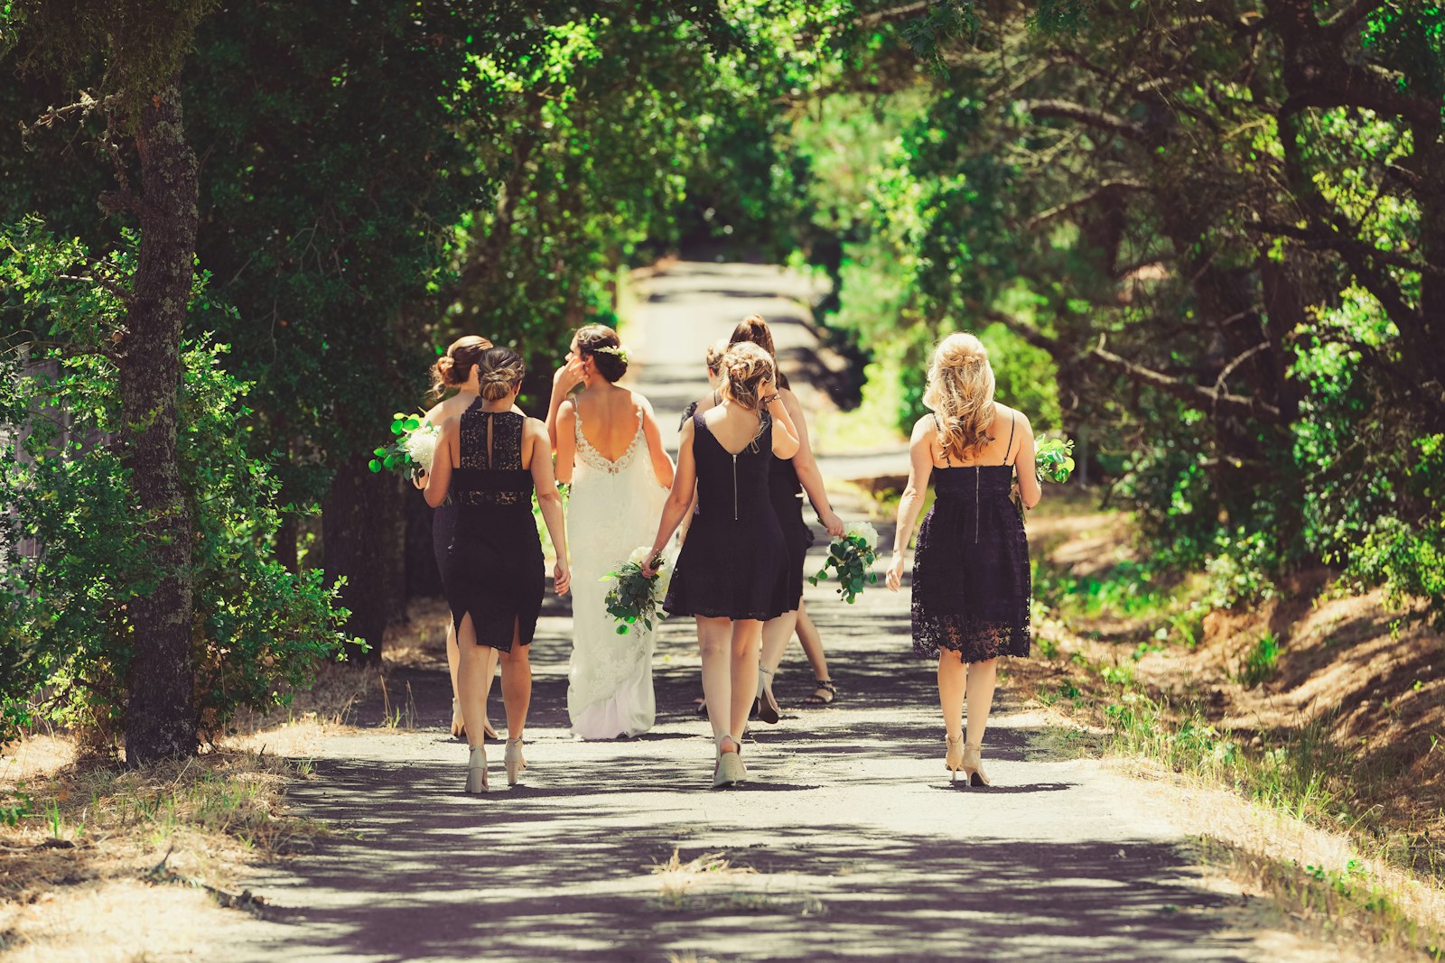
[(1363, 941), (1371, 959), (1439, 959), (1442, 640), (1402, 631), (1377, 593), (1332, 591), (1324, 573), (1189, 624), (1199, 582), (1111, 575), (1131, 562), (1120, 517), (1064, 515), (1029, 534), (1043, 567), (1090, 589), (1039, 614), (1046, 660), (1010, 671), (1064, 723), (1052, 748), (1113, 755), (1150, 780), (1220, 872), (1303, 930)]

